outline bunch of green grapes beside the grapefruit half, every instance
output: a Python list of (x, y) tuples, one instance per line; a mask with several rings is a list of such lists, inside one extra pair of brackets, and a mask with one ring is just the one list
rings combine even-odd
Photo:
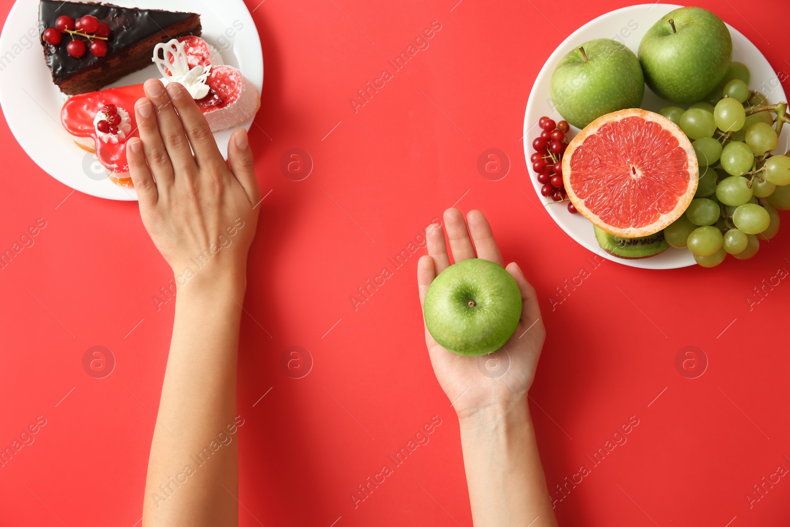
[(752, 258), (761, 240), (777, 235), (777, 211), (790, 210), (790, 150), (775, 152), (790, 123), (788, 104), (770, 104), (749, 89), (750, 79), (745, 64), (732, 62), (703, 100), (659, 111), (689, 137), (699, 164), (694, 199), (664, 238), (687, 247), (703, 267), (719, 265), (728, 254)]

